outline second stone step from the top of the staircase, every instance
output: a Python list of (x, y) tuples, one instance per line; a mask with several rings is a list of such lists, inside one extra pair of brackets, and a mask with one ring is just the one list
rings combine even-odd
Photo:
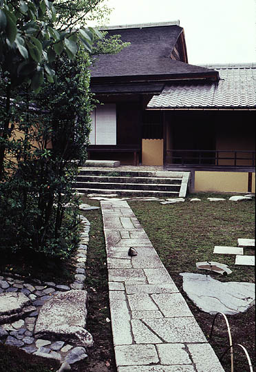
[(164, 183), (180, 185), (181, 178), (166, 178), (166, 177), (127, 177), (127, 176), (78, 176), (78, 183), (82, 182), (105, 182), (105, 183)]

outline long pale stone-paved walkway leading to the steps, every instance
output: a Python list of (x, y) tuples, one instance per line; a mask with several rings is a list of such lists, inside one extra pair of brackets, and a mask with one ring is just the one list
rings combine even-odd
[(127, 202), (101, 207), (118, 372), (224, 372)]

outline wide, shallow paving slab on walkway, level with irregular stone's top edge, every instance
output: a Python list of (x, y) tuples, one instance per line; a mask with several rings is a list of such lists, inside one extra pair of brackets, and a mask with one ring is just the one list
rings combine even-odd
[(132, 293), (175, 293), (178, 292), (178, 288), (175, 286), (173, 280), (169, 283), (158, 284), (158, 285), (132, 285), (127, 283), (125, 285), (127, 294)]

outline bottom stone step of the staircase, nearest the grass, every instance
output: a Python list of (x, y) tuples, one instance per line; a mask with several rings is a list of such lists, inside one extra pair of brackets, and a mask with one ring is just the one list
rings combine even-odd
[[(76, 188), (78, 192), (84, 194), (113, 194), (113, 189), (89, 189), (85, 187)], [(115, 194), (122, 196), (179, 196), (175, 191), (158, 191), (158, 190), (137, 190), (137, 189), (115, 189)]]

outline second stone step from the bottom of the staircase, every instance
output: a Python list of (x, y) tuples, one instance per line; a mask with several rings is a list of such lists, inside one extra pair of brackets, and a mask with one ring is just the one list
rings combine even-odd
[(156, 183), (106, 183), (106, 182), (83, 182), (83, 183), (76, 183), (76, 188), (99, 188), (99, 189), (136, 189), (136, 190), (155, 190), (155, 191), (173, 191), (173, 192), (179, 192), (180, 191), (180, 185), (166, 185), (166, 184), (156, 184)]

